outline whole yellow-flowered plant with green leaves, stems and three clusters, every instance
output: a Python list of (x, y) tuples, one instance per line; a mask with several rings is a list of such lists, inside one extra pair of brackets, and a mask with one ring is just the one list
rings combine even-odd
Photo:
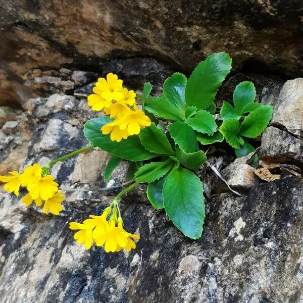
[[(121, 160), (130, 162), (133, 183), (123, 189), (100, 216), (90, 215), (71, 222), (74, 239), (85, 248), (104, 246), (106, 252), (127, 251), (136, 247), (139, 237), (127, 232), (119, 209), (122, 195), (140, 183), (147, 183), (147, 197), (157, 209), (165, 209), (169, 219), (187, 237), (197, 239), (203, 232), (205, 218), (203, 183), (194, 174), (206, 162), (205, 145), (230, 144), (237, 157), (254, 151), (250, 138), (259, 136), (268, 125), (272, 107), (255, 102), (256, 89), (248, 81), (239, 83), (233, 92), (233, 105), (224, 102), (220, 119), (215, 119), (214, 99), (219, 86), (231, 70), (231, 59), (217, 53), (200, 62), (188, 79), (175, 73), (164, 82), (161, 96), (149, 96), (152, 85), (145, 83), (143, 93), (123, 87), (117, 75), (99, 78), (88, 96), (93, 111), (104, 117), (91, 119), (84, 134), (91, 145), (75, 150), (41, 168), (34, 164), (19, 174), (0, 176), (4, 189), (19, 195), (23, 186), (28, 193), (22, 202), (43, 205), (44, 213), (58, 215), (64, 200), (54, 177), (52, 165), (93, 147), (112, 154), (104, 172), (109, 181)], [(138, 108), (136, 98), (141, 100)], [(159, 121), (167, 121), (167, 127)]]

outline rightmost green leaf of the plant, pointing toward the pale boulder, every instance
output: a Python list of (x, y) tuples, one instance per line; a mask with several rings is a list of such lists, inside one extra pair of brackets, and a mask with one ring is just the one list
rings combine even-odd
[(240, 126), (239, 135), (255, 138), (259, 136), (267, 127), (273, 113), (271, 105), (265, 105), (251, 112)]

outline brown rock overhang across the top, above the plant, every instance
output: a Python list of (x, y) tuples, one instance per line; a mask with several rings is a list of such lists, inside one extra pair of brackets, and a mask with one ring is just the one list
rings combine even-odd
[(0, 99), (26, 99), (32, 68), (99, 71), (117, 57), (157, 58), (188, 73), (226, 51), (237, 71), (300, 76), (301, 10), (300, 0), (1, 0)]

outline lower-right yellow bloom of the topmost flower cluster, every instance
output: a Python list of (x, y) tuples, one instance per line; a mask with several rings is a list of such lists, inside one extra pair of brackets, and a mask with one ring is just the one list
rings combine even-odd
[(150, 119), (141, 111), (131, 111), (127, 116), (119, 120), (119, 127), (121, 130), (126, 130), (128, 134), (137, 135), (141, 127), (150, 126)]

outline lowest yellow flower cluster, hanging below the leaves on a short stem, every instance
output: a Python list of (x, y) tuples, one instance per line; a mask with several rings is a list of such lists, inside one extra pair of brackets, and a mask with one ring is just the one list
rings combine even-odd
[(134, 240), (139, 240), (139, 236), (123, 228), (122, 218), (117, 216), (115, 205), (106, 208), (101, 216), (90, 215), (83, 223), (71, 222), (70, 229), (78, 230), (74, 239), (84, 244), (86, 249), (95, 243), (96, 246), (104, 246), (106, 252), (118, 252), (122, 248), (130, 251), (136, 248)]

